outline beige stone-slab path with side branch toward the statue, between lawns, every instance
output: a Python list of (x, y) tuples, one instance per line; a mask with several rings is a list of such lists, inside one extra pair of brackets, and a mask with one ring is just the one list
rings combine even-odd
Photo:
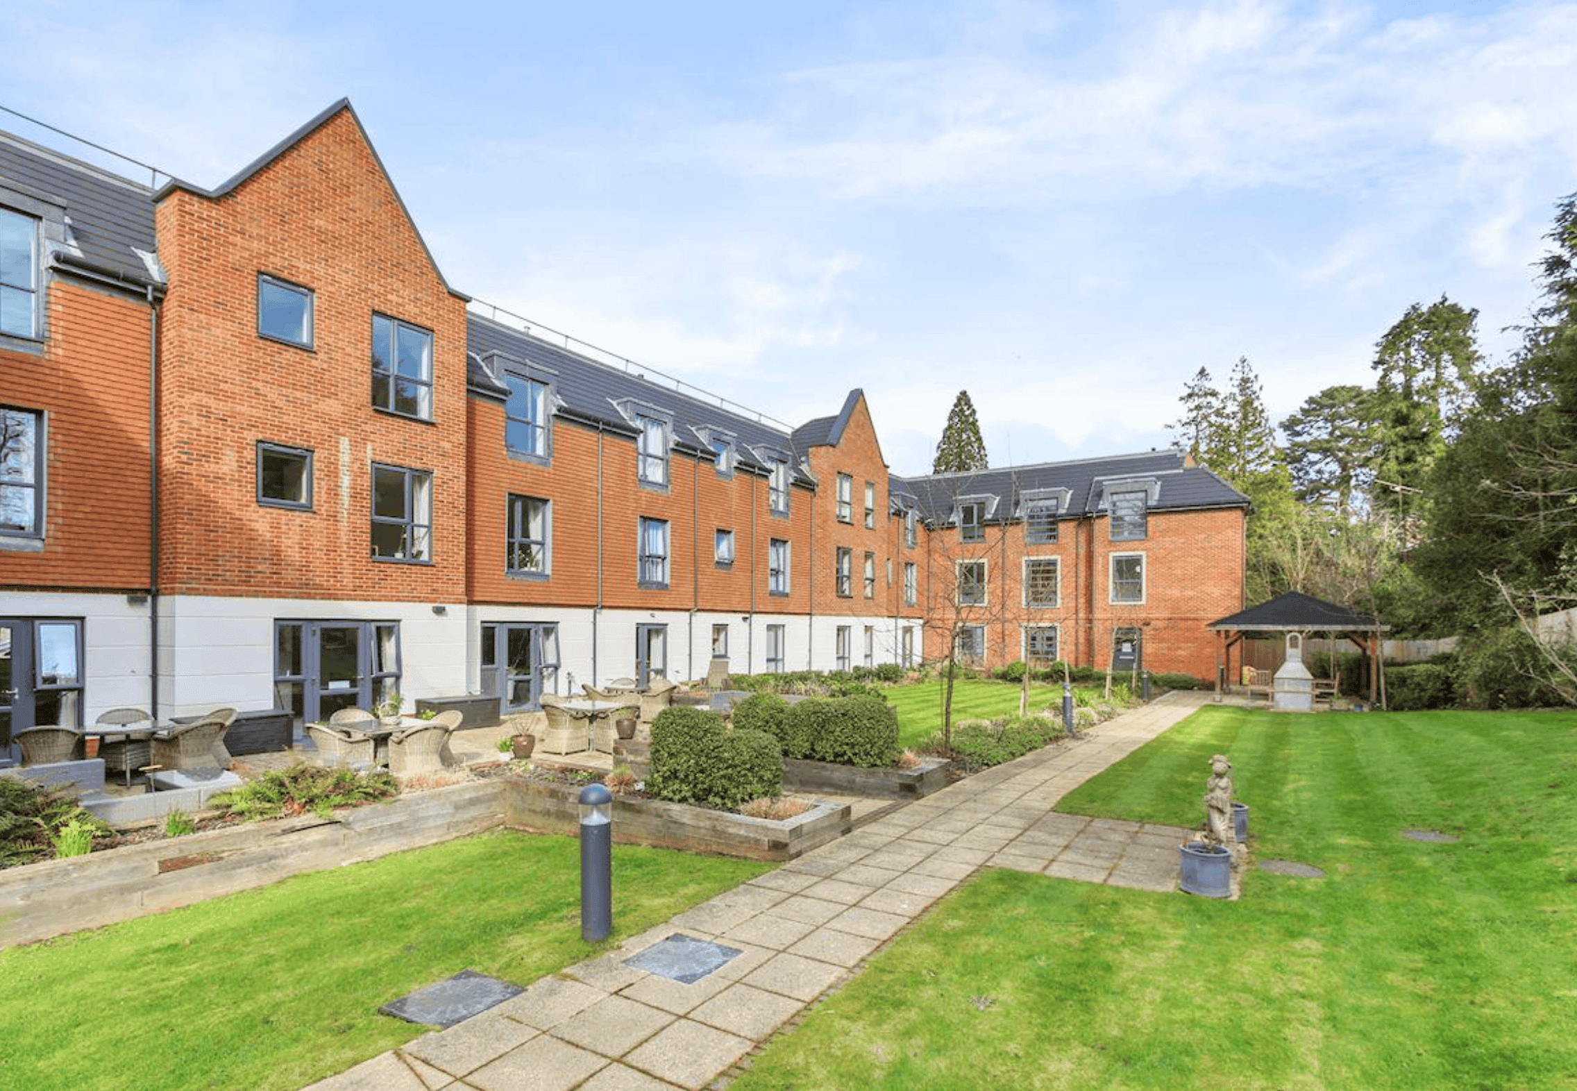
[[(705, 1088), (981, 866), (1172, 891), (1181, 828), (1052, 807), (1206, 700), (1172, 692), (949, 785), (309, 1091)], [(689, 985), (624, 965), (675, 932), (743, 954)]]

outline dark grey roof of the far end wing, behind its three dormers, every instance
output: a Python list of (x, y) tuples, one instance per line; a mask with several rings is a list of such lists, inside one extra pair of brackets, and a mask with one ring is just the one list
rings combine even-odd
[(894, 476), (893, 492), (913, 498), (927, 522), (945, 525), (965, 497), (995, 501), (986, 522), (1017, 519), (1019, 498), (1027, 492), (1057, 493), (1064, 500), (1064, 516), (1094, 514), (1101, 511), (1102, 486), (1135, 479), (1153, 486), (1150, 511), (1249, 506), (1241, 492), (1210, 470), (1184, 465), (1183, 452), (1172, 449), (924, 478)]

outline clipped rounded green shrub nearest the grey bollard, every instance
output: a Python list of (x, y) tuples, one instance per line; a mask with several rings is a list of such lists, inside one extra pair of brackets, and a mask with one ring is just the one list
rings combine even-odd
[(733, 730), (700, 708), (673, 705), (651, 722), (651, 774), (647, 791), (672, 802), (735, 809), (782, 790), (777, 739), (765, 732)]

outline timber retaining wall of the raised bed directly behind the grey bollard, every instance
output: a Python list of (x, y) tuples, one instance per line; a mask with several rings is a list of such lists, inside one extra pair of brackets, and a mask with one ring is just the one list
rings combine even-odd
[[(508, 777), (503, 784), (505, 825), (509, 828), (544, 834), (576, 834), (579, 829), (580, 785), (524, 777)], [(818, 804), (803, 815), (774, 821), (645, 796), (613, 798), (613, 840), (621, 845), (779, 861), (837, 840), (852, 825), (847, 806)]]

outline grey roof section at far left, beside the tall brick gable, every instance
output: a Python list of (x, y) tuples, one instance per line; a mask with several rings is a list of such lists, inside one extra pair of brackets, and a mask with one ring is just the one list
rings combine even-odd
[(147, 186), (9, 134), (0, 134), (0, 186), (65, 207), (66, 236), (49, 241), (49, 260), (132, 285), (164, 282)]

